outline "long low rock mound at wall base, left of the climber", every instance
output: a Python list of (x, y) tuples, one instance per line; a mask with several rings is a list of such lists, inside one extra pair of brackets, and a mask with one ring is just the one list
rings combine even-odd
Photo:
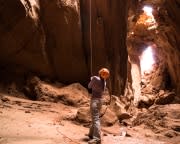
[(79, 83), (64, 86), (42, 81), (36, 76), (27, 80), (25, 93), (34, 100), (61, 102), (71, 106), (87, 105), (89, 101), (87, 89)]

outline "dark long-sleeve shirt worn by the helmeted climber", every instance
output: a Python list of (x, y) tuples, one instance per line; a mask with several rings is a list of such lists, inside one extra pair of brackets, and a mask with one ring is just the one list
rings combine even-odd
[(92, 89), (92, 98), (102, 98), (106, 87), (106, 81), (98, 76), (92, 76), (88, 88)]

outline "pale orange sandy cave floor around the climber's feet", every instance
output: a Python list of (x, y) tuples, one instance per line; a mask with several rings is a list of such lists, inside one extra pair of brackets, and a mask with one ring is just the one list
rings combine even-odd
[[(77, 108), (3, 96), (0, 104), (0, 144), (86, 144), (88, 128), (75, 124)], [(142, 137), (145, 131), (127, 129), (133, 137), (119, 136), (120, 127), (102, 127), (102, 144), (170, 144)], [(148, 133), (148, 131), (147, 131)]]

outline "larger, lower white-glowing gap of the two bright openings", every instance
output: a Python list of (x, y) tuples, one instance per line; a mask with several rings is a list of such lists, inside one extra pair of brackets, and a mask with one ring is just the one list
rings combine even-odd
[(147, 49), (143, 52), (140, 61), (141, 61), (141, 74), (144, 75), (144, 73), (150, 73), (153, 69), (153, 64), (155, 63), (153, 59), (153, 51), (150, 46), (147, 47)]

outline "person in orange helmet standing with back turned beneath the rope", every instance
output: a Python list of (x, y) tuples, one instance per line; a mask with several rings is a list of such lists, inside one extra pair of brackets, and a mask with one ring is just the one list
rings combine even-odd
[(102, 106), (102, 96), (106, 88), (106, 79), (110, 73), (107, 68), (101, 68), (98, 76), (92, 76), (88, 84), (88, 88), (92, 90), (90, 111), (92, 124), (89, 129), (89, 144), (101, 143), (101, 128), (100, 128), (100, 110)]

